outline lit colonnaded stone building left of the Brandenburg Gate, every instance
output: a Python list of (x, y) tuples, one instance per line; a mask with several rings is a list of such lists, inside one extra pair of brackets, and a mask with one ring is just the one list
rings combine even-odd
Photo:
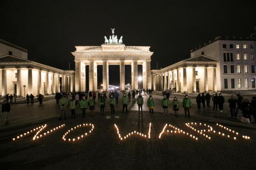
[(44, 95), (74, 90), (74, 71), (27, 60), (28, 51), (0, 40), (0, 95)]

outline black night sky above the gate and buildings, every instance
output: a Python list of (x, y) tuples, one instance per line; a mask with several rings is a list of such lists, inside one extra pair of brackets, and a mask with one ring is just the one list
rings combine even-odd
[[(1, 0), (0, 39), (28, 49), (29, 60), (68, 69), (68, 63), (74, 68), (74, 46), (99, 46), (115, 28), (125, 45), (151, 46), (152, 69), (156, 62), (166, 67), (216, 36), (253, 31), (255, 1), (211, 2)], [(110, 83), (119, 81), (116, 68), (109, 68)]]

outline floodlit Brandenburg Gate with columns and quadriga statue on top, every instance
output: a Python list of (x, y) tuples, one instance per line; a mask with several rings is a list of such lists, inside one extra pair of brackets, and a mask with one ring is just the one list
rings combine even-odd
[[(125, 65), (131, 65), (132, 89), (138, 89), (138, 65), (142, 65), (142, 86), (151, 89), (150, 46), (125, 46), (114, 29), (109, 39), (105, 36), (105, 44), (101, 46), (75, 46), (72, 52), (75, 58), (75, 91), (97, 91), (97, 66), (103, 65), (103, 90), (108, 90), (108, 66), (120, 65), (120, 90), (125, 89)], [(89, 88), (86, 87), (86, 69), (89, 65)]]

